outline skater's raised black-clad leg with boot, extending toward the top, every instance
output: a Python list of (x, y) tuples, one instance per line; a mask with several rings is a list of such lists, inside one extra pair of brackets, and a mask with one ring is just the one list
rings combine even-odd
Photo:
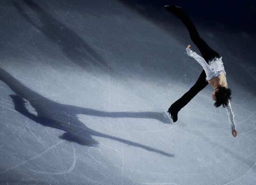
[(167, 6), (166, 9), (169, 12), (175, 14), (175, 16), (179, 18), (182, 23), (187, 27), (191, 40), (197, 46), (206, 62), (209, 62), (209, 60), (211, 60), (212, 58), (220, 57), (219, 54), (212, 48), (210, 48), (210, 46), (200, 37), (192, 20), (182, 10), (182, 8), (176, 6)]

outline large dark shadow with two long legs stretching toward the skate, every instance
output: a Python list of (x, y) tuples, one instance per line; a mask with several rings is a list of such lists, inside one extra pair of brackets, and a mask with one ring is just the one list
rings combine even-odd
[[(17, 94), (11, 95), (11, 98), (13, 99), (13, 103), (15, 106), (15, 110), (43, 126), (58, 128), (65, 131), (66, 133), (60, 136), (60, 138), (64, 140), (73, 141), (81, 145), (95, 146), (98, 144), (98, 142), (94, 140), (92, 136), (98, 136), (123, 142), (134, 147), (141, 147), (148, 151), (160, 153), (162, 155), (166, 155), (169, 157), (174, 156), (173, 154), (166, 153), (162, 150), (158, 150), (133, 141), (121, 139), (115, 136), (103, 134), (95, 130), (92, 130), (86, 127), (84, 123), (82, 123), (77, 117), (77, 115), (79, 114), (84, 114), (114, 118), (151, 118), (160, 120), (164, 123), (170, 123), (170, 119), (164, 113), (104, 112), (90, 108), (82, 108), (57, 103), (27, 88), (25, 85), (20, 83), (16, 78), (12, 77), (6, 70), (3, 70), (2, 68), (0, 68), (0, 80), (5, 82)], [(32, 114), (27, 110), (25, 100), (27, 100), (31, 104), (31, 106), (34, 107), (37, 114)]]

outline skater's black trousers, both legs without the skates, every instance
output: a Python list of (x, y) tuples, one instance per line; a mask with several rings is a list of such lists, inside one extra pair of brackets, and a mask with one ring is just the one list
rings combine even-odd
[[(182, 13), (175, 14), (175, 16), (178, 17), (187, 27), (191, 40), (197, 46), (197, 48), (202, 54), (202, 57), (205, 59), (207, 63), (209, 62), (209, 60), (215, 57), (220, 57), (220, 55), (216, 51), (211, 49), (209, 45), (207, 45), (206, 42), (200, 37), (199, 33), (195, 28), (195, 25), (193, 24), (191, 19), (189, 19), (186, 13), (182, 11)], [(202, 70), (202, 73), (197, 79), (195, 85), (193, 85), (193, 87), (191, 87), (191, 89), (189, 89), (188, 92), (186, 92), (180, 99), (178, 99), (171, 105), (170, 108), (172, 109), (172, 111), (180, 111), (185, 105), (187, 105), (190, 102), (190, 100), (192, 100), (193, 97), (195, 97), (197, 93), (204, 89), (208, 85), (208, 82), (206, 81), (205, 78), (206, 74), (204, 70)]]

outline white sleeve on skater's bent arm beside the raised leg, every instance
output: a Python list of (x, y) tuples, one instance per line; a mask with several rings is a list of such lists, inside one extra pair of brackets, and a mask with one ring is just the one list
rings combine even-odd
[(207, 80), (212, 79), (215, 76), (215, 70), (210, 68), (209, 64), (207, 64), (203, 57), (199, 56), (196, 52), (190, 50), (189, 48), (186, 48), (186, 51), (189, 57), (194, 58), (202, 66), (203, 70), (205, 71)]

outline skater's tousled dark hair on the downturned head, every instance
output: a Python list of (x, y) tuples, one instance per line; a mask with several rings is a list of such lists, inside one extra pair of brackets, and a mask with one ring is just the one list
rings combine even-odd
[(215, 107), (226, 107), (231, 100), (231, 89), (226, 87), (218, 87), (216, 88), (218, 91), (215, 92), (216, 102), (214, 103)]

